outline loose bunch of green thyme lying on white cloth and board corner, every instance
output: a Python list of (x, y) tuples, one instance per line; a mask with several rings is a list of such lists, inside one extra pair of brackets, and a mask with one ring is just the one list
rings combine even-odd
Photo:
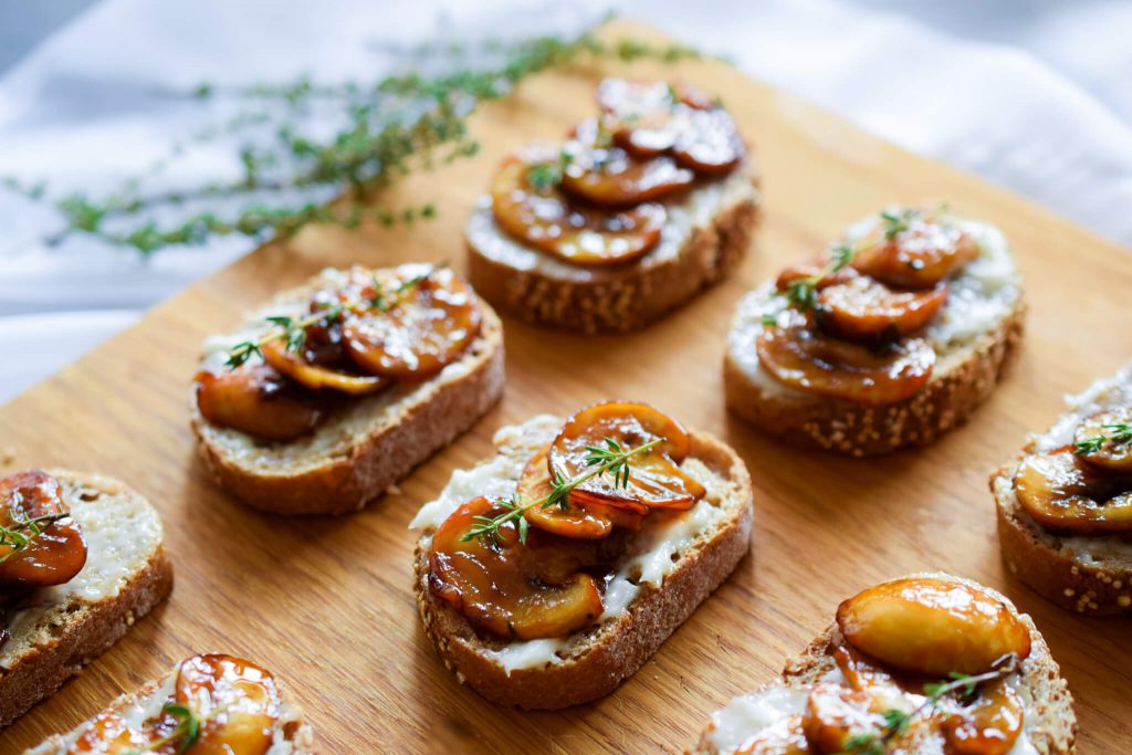
[[(61, 195), (42, 181), (16, 177), (0, 179), (0, 186), (58, 211), (63, 228), (45, 239), (49, 243), (84, 234), (145, 255), (226, 235), (286, 238), (310, 223), (346, 229), (365, 222), (409, 224), (435, 217), (435, 204), (396, 208), (381, 204), (378, 192), (414, 170), (477, 154), (479, 143), (469, 132), (468, 119), (479, 104), (503, 97), (551, 67), (593, 59), (671, 63), (702, 57), (677, 44), (607, 42), (592, 29), (574, 38), (489, 41), (472, 54), (477, 65), (468, 62), (462, 49), (435, 49), (422, 65), (437, 72), (418, 69), (375, 81), (315, 83), (300, 77), (249, 87), (203, 83), (183, 96), (197, 103), (234, 100), (234, 115), (174, 143), (165, 157), (110, 195)], [(340, 119), (329, 134), (324, 128), (327, 108)], [(153, 177), (221, 138), (242, 143), (235, 147), (240, 175), (175, 190), (148, 189)], [(335, 195), (343, 195), (342, 200), (327, 206), (325, 199)], [(217, 207), (220, 200), (234, 207)], [(154, 220), (171, 214), (179, 220)]]

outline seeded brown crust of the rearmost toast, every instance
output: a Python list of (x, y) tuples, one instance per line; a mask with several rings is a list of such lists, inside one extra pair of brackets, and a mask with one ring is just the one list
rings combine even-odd
[[(754, 171), (753, 166), (740, 170)], [(757, 179), (752, 177), (757, 187)], [(757, 192), (693, 228), (679, 251), (651, 266), (635, 263), (586, 268), (567, 278), (517, 268), (483, 254), (470, 239), (469, 280), (484, 299), (525, 323), (582, 333), (636, 331), (728, 275), (751, 247)]]

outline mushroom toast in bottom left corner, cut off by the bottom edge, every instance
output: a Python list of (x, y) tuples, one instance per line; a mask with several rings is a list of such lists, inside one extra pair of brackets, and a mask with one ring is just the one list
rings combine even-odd
[(314, 731), (281, 680), (232, 655), (194, 655), (26, 755), (305, 755)]

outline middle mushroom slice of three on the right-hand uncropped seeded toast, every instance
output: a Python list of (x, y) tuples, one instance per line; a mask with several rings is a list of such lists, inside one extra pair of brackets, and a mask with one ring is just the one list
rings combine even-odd
[(852, 341), (899, 338), (932, 321), (947, 301), (947, 285), (931, 291), (893, 291), (857, 276), (817, 293), (822, 327)]

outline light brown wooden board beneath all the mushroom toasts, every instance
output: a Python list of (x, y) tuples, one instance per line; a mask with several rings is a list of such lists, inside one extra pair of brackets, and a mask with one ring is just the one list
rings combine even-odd
[[(627, 22), (606, 34), (660, 38)], [(400, 495), (354, 516), (272, 517), (217, 489), (187, 422), (201, 340), (326, 265), (447, 259), (462, 267), (461, 228), (497, 161), (531, 137), (560, 136), (592, 112), (599, 77), (625, 70), (684, 76), (719, 94), (757, 149), (764, 215), (738, 273), (633, 335), (582, 337), (507, 321), (503, 404), (419, 467)], [(389, 198), (393, 206), (435, 200), (438, 220), (354, 233), (309, 229), (269, 243), (0, 409), (0, 471), (63, 465), (121, 478), (161, 511), (177, 569), (171, 599), (0, 735), (0, 749), (71, 728), (182, 657), (226, 651), (291, 684), (327, 753), (676, 750), (694, 741), (711, 711), (772, 679), (840, 600), (886, 577), (945, 569), (1004, 591), (1034, 616), (1078, 701), (1080, 752), (1132, 750), (1132, 619), (1081, 618), (1009, 578), (987, 490), (989, 471), (1061, 412), (1065, 392), (1132, 357), (1132, 256), (715, 61), (547, 74), (484, 108), (473, 131), (478, 157), (414, 177)], [(972, 420), (932, 448), (861, 462), (780, 446), (730, 418), (720, 362), (739, 295), (886, 203), (940, 199), (1005, 231), (1031, 307), (1020, 361)], [(406, 526), (452, 470), (491, 451), (496, 428), (606, 397), (654, 403), (739, 451), (755, 483), (752, 552), (612, 695), (557, 713), (500, 710), (461, 687), (421, 633), (411, 590), (415, 535)]]

